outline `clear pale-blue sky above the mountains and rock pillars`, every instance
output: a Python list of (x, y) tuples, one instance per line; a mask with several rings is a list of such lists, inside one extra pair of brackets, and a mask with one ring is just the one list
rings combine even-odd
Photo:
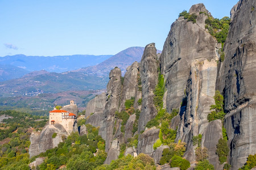
[(171, 24), (196, 3), (222, 18), (237, 1), (0, 0), (0, 56), (116, 54), (151, 42), (162, 50)]

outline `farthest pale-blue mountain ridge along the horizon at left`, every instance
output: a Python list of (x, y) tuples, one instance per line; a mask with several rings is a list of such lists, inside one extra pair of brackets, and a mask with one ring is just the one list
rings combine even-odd
[(49, 72), (63, 73), (97, 65), (113, 55), (73, 55), (73, 56), (15, 56), (0, 57), (0, 81), (20, 78), (31, 71), (46, 70)]

